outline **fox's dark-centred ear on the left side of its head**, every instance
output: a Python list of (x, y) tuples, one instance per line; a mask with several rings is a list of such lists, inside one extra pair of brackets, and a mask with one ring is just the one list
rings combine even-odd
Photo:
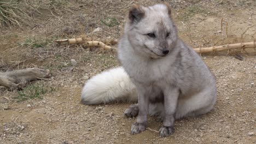
[(139, 22), (145, 15), (145, 11), (138, 4), (133, 4), (129, 11), (129, 19), (131, 23)]

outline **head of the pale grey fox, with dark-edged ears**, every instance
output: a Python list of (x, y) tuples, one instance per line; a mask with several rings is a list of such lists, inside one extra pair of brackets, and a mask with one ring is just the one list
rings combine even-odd
[(178, 37), (171, 8), (167, 4), (152, 7), (133, 5), (124, 33), (136, 52), (151, 58), (167, 56)]

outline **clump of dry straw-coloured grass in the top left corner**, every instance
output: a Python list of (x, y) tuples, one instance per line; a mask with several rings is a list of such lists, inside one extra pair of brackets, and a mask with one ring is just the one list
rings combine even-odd
[(68, 2), (64, 0), (2, 0), (0, 1), (0, 26), (31, 26), (37, 21), (34, 17), (42, 15), (40, 9), (56, 11), (66, 8), (67, 5)]

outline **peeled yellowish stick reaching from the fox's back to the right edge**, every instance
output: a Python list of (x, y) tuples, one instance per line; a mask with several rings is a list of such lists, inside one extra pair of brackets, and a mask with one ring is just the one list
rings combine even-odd
[(237, 43), (237, 44), (227, 44), (220, 46), (212, 46), (212, 47), (202, 47), (194, 49), (197, 53), (206, 53), (206, 52), (214, 52), (214, 51), (224, 51), (224, 50), (232, 50), (232, 49), (246, 49), (246, 48), (256, 48), (256, 43), (254, 41), (248, 43)]

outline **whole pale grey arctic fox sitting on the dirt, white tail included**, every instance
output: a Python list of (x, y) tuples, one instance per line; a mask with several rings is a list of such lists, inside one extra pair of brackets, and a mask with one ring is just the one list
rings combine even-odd
[(131, 134), (146, 129), (149, 114), (162, 119), (161, 137), (171, 135), (175, 119), (205, 114), (216, 103), (216, 80), (201, 57), (179, 39), (167, 4), (132, 6), (118, 58), (123, 67), (85, 83), (82, 103), (138, 100), (124, 112), (137, 116)]

